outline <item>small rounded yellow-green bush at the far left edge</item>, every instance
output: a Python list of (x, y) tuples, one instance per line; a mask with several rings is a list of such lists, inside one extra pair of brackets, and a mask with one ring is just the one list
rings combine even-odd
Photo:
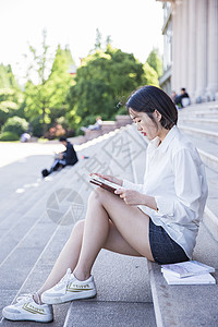
[(28, 123), (24, 118), (14, 116), (9, 118), (2, 128), (2, 133), (12, 132), (19, 136), (28, 130)]

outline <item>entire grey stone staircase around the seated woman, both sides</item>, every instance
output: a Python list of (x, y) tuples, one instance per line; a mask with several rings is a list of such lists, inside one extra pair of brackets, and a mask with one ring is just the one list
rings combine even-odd
[[(209, 196), (194, 257), (216, 268), (218, 280), (218, 104), (190, 106), (179, 112), (179, 126), (197, 146), (206, 165)], [(193, 120), (191, 120), (193, 119)], [(202, 122), (202, 119), (207, 119)], [(208, 120), (210, 123), (208, 123)], [(213, 123), (214, 120), (214, 123)], [(201, 132), (199, 132), (201, 131)], [(0, 211), (0, 307), (17, 294), (34, 292), (47, 278), (73, 225), (85, 217), (95, 186), (88, 173), (101, 171), (140, 182), (146, 140), (133, 125), (81, 145), (87, 160), (47, 178), (28, 193), (10, 197)], [(1, 203), (0, 203), (1, 204)], [(216, 286), (168, 286), (160, 267), (145, 258), (101, 251), (93, 268), (96, 299), (55, 305), (50, 326), (218, 326)], [(155, 308), (155, 310), (154, 310)], [(0, 320), (1, 326), (39, 326)]]

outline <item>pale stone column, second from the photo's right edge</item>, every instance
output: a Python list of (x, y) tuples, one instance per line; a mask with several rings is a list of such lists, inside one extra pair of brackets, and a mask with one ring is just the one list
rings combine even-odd
[[(210, 1), (210, 0), (209, 0)], [(206, 100), (207, 85), (207, 0), (197, 0), (196, 38), (196, 93), (197, 101)]]

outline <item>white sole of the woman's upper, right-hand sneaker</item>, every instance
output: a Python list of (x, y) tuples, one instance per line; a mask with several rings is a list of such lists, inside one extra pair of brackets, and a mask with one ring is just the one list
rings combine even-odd
[(51, 298), (47, 296), (46, 294), (41, 295), (41, 301), (46, 304), (61, 304), (65, 302), (71, 302), (75, 300), (85, 300), (85, 299), (92, 299), (96, 296), (96, 290), (93, 290), (90, 292), (81, 292), (81, 293), (75, 293), (75, 294), (66, 294), (63, 296), (57, 296), (57, 298)]

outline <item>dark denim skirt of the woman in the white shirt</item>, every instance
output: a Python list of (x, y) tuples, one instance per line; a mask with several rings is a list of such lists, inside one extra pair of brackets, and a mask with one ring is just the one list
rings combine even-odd
[(149, 243), (153, 257), (159, 265), (187, 262), (184, 250), (174, 242), (161, 226), (149, 219)]

